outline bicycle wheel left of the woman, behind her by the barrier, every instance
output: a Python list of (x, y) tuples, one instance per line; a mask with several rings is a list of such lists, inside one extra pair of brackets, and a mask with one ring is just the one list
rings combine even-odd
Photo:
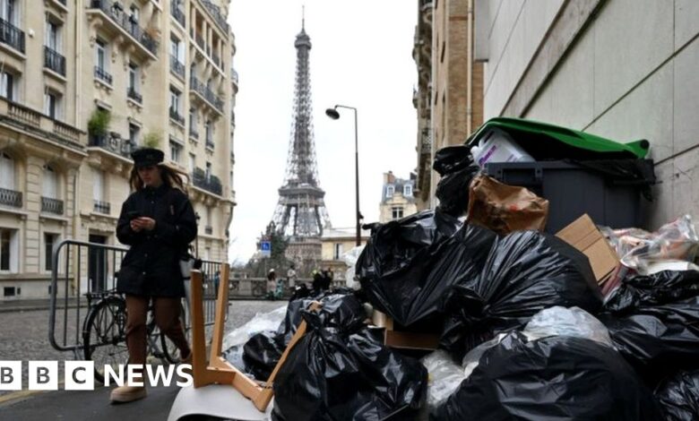
[(126, 348), (126, 303), (116, 296), (108, 297), (95, 305), (88, 314), (82, 338), (86, 360), (95, 362), (95, 380), (104, 382), (105, 365), (128, 362)]

